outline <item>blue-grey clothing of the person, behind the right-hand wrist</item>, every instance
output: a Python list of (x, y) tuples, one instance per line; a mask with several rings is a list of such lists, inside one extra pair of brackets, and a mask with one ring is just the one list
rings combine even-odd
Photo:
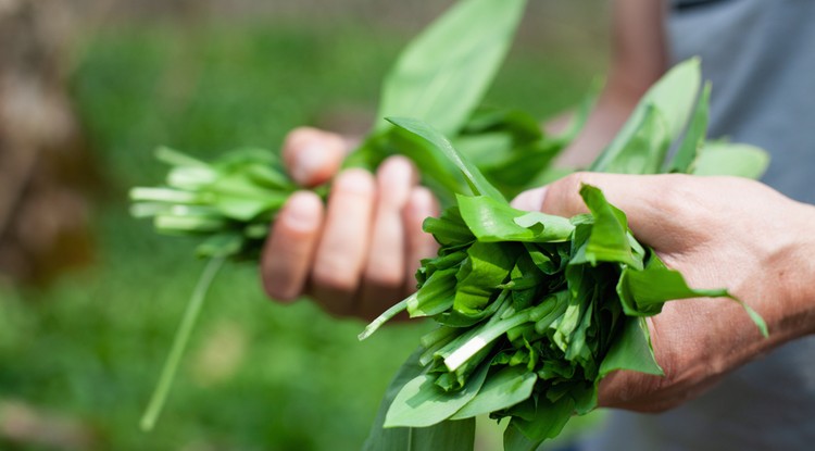
[[(711, 137), (770, 152), (763, 181), (815, 203), (815, 1), (675, 2), (674, 63), (702, 58)], [(782, 218), (779, 218), (782, 221)], [(813, 224), (815, 227), (815, 224)], [(659, 415), (614, 411), (581, 450), (812, 450), (815, 337), (777, 349)]]

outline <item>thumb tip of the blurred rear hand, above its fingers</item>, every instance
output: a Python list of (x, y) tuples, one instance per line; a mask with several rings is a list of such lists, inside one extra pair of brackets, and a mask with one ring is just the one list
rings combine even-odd
[(337, 174), (349, 148), (349, 142), (340, 135), (300, 127), (286, 136), (283, 159), (294, 181), (313, 187)]

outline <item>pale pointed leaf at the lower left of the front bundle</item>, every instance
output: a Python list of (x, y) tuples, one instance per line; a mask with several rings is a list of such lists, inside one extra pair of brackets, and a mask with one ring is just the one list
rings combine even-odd
[(385, 427), (426, 427), (449, 418), (478, 393), (488, 369), (489, 365), (482, 364), (457, 391), (442, 390), (435, 374), (416, 376), (393, 399)]

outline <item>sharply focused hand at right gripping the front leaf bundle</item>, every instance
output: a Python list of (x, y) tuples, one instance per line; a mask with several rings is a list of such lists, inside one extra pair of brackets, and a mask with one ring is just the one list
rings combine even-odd
[(580, 184), (626, 212), (635, 236), (697, 288), (725, 287), (767, 322), (763, 338), (735, 302), (689, 299), (649, 318), (664, 377), (620, 371), (600, 385), (600, 405), (642, 412), (676, 406), (727, 372), (815, 331), (815, 208), (752, 180), (686, 175), (578, 173), (523, 192), (516, 208), (587, 212)]

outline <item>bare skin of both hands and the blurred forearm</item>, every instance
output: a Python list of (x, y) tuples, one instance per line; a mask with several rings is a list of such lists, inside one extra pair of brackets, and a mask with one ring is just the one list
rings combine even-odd
[[(611, 141), (641, 95), (667, 67), (664, 3), (616, 0), (609, 82), (581, 135), (559, 159), (588, 165)], [(556, 128), (563, 117), (547, 124)], [(314, 195), (292, 196), (262, 258), (269, 297), (289, 302), (309, 295), (336, 315), (372, 318), (412, 289), (419, 259), (436, 251), (421, 223), (436, 215), (429, 191), (416, 186), (404, 159), (377, 174), (337, 174), (350, 148), (342, 137), (292, 130), (284, 156), (304, 187), (335, 177), (328, 206)], [(604, 406), (660, 412), (692, 399), (720, 377), (774, 348), (815, 331), (815, 208), (751, 180), (681, 175), (578, 173), (522, 193), (514, 204), (572, 216), (586, 211), (581, 183), (603, 189), (627, 214), (637, 237), (698, 288), (727, 287), (767, 322), (763, 338), (744, 311), (727, 300), (668, 302), (650, 318), (665, 377), (616, 372), (600, 387)], [(811, 235), (811, 234), (810, 234)]]

